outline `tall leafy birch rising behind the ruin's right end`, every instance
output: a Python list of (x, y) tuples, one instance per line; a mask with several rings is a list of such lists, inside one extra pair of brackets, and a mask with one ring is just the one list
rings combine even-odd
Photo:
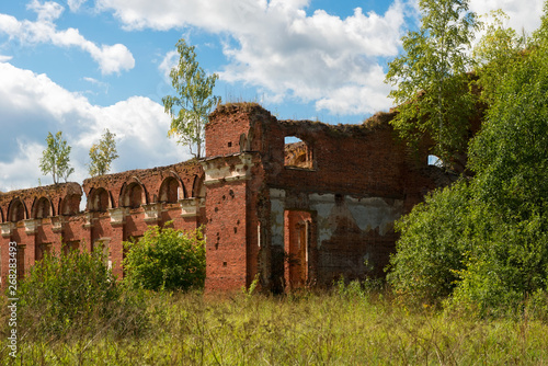
[(467, 48), (478, 22), (468, 0), (420, 0), (419, 7), (421, 28), (402, 38), (404, 53), (386, 77), (398, 87), (389, 95), (400, 104), (391, 124), (414, 148), (432, 138), (433, 153), (450, 163), (466, 150), (473, 107)]

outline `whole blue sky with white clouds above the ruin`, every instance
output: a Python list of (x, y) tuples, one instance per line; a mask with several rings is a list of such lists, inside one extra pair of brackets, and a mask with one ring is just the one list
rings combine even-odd
[[(509, 25), (539, 25), (541, 0), (471, 0)], [(196, 46), (224, 101), (258, 101), (278, 118), (361, 123), (391, 106), (383, 80), (416, 0), (23, 0), (0, 2), (0, 191), (50, 184), (38, 159), (48, 131), (72, 147), (71, 181), (88, 151), (116, 134), (113, 172), (190, 158), (168, 139), (174, 45)]]

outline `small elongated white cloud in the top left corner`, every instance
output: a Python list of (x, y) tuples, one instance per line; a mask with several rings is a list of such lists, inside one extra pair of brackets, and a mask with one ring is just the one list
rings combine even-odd
[(65, 8), (57, 2), (41, 3), (34, 0), (27, 8), (36, 12), (35, 22), (0, 14), (0, 33), (23, 44), (50, 43), (59, 47), (78, 47), (90, 54), (103, 75), (119, 73), (135, 67), (132, 53), (122, 44), (99, 46), (85, 39), (77, 28), (58, 31), (55, 21), (61, 16)]

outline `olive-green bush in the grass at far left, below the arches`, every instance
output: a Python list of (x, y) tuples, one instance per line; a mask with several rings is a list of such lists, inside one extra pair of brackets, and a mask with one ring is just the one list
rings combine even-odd
[(60, 336), (73, 328), (102, 327), (119, 300), (116, 281), (99, 251), (49, 255), (20, 284), (22, 329)]

